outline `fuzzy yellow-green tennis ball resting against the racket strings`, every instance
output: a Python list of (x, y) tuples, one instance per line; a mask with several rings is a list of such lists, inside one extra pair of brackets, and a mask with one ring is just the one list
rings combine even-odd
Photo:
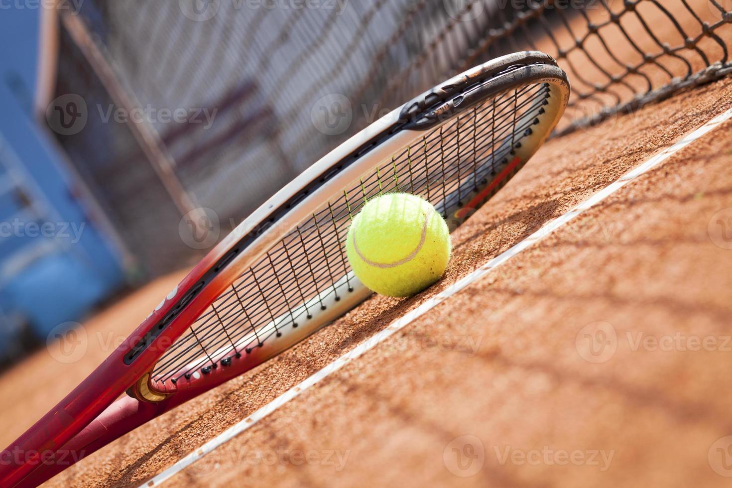
[(412, 296), (440, 279), (450, 248), (442, 216), (427, 200), (408, 193), (368, 200), (346, 236), (356, 277), (389, 296)]

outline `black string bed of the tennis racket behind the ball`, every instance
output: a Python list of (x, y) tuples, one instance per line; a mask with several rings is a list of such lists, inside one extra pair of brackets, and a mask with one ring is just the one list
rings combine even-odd
[(344, 239), (366, 201), (411, 192), (447, 215), (512, 159), (544, 113), (550, 91), (539, 83), (487, 100), (396, 151), (356, 184), (285, 233), (212, 303), (158, 361), (154, 381), (197, 379), (325, 309), (351, 290)]

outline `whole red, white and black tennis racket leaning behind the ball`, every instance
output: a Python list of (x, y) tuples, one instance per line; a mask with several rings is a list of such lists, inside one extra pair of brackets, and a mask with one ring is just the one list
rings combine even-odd
[(3, 451), (1, 486), (40, 484), (356, 307), (370, 291), (352, 274), (343, 240), (367, 199), (420, 195), (456, 228), (539, 149), (568, 97), (567, 76), (550, 56), (514, 53), (354, 135), (244, 220)]

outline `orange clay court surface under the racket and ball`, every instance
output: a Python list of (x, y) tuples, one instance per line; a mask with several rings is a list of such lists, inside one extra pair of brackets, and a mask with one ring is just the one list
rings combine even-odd
[[(729, 108), (725, 79), (550, 140), (453, 234), (433, 288), (372, 297), (48, 484), (143, 484)], [(730, 443), (717, 440), (732, 435), (731, 133), (722, 124), (168, 486), (728, 486), (718, 472), (732, 474)], [(49, 348), (6, 372), (0, 443), (85, 378), (182, 276), (86, 321), (83, 353)], [(586, 337), (610, 349), (584, 348)]]

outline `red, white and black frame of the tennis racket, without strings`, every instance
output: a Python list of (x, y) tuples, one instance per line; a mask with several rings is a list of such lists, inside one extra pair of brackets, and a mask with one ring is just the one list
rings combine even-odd
[[(515, 66), (521, 67), (499, 74)], [(486, 80), (490, 83), (479, 86)], [(343, 294), (347, 299), (335, 301), (330, 296), (326, 310), (314, 323), (317, 325), (293, 329), (283, 334), (286, 335), (283, 338), (268, 339), (272, 341), (270, 345), (266, 349), (255, 348), (252, 359), (242, 361), (241, 366), (217, 367), (206, 380), (195, 378), (176, 385), (169, 383), (165, 388), (149, 380), (165, 350), (231, 287), (242, 270), (256, 263), (273, 242), (292, 230), (286, 225), (280, 228), (277, 222), (303, 222), (336, 191), (348, 187), (377, 162), (389, 159), (426, 131), (493, 95), (531, 83), (549, 84), (552, 96), (548, 99), (547, 114), (534, 126), (531, 135), (521, 139), (520, 149), (515, 149), (515, 157), (507, 165), (509, 169), (504, 168), (499, 174), (504, 179), (498, 181), (500, 187), (548, 138), (569, 99), (566, 75), (556, 66), (556, 61), (538, 51), (502, 56), (441, 83), (363, 129), (307, 168), (214, 247), (100, 367), (12, 443), (8, 449), (19, 449), (26, 453), (26, 458), (20, 465), (0, 465), (3, 486), (14, 486), (42, 465), (42, 453), (64, 448), (64, 451), (85, 451), (86, 456), (125, 432), (276, 356), (366, 299), (370, 292), (354, 280), (352, 290)], [(476, 86), (466, 93), (466, 89)], [(471, 214), (471, 208), (477, 209), (495, 192), (495, 188), (490, 192), (481, 190), (468, 195), (468, 205), (459, 209), (460, 214), (452, 216), (458, 223)], [(125, 391), (130, 397), (120, 398)], [(26, 478), (23, 484), (43, 481), (65, 467), (48, 465), (46, 470)]]

